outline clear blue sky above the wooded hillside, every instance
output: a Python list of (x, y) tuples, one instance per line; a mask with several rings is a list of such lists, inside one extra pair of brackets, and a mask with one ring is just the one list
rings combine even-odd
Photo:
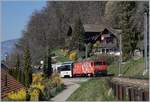
[(2, 41), (20, 38), (35, 10), (41, 10), (46, 1), (3, 1), (2, 6)]

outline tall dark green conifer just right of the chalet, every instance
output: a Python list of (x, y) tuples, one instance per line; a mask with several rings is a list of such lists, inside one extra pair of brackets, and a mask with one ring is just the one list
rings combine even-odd
[[(122, 5), (122, 15), (121, 15), (121, 29), (122, 29), (122, 44), (123, 44), (123, 58), (124, 60), (131, 57), (132, 50), (135, 49), (135, 44), (137, 44), (137, 36), (135, 35), (135, 30), (131, 29), (130, 19), (134, 13), (135, 2), (120, 2)], [(137, 34), (137, 33), (136, 33)], [(136, 42), (135, 42), (136, 41)]]

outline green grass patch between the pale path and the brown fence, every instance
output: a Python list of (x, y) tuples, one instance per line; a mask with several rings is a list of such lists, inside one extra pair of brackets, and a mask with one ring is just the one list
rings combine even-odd
[[(112, 95), (108, 96), (108, 86), (105, 79), (93, 78), (81, 83), (69, 98), (68, 101), (100, 101), (113, 100)], [(107, 97), (106, 97), (107, 96)]]

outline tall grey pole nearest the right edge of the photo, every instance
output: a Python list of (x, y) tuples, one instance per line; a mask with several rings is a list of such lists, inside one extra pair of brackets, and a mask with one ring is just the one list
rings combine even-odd
[(144, 62), (145, 62), (145, 69), (143, 75), (145, 75), (148, 71), (148, 60), (147, 60), (147, 13), (144, 13)]

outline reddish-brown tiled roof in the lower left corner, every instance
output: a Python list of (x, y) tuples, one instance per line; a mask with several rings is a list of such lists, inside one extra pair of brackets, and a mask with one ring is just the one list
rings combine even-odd
[(21, 88), (25, 89), (5, 68), (1, 67), (1, 99), (5, 98), (9, 92), (17, 91)]

